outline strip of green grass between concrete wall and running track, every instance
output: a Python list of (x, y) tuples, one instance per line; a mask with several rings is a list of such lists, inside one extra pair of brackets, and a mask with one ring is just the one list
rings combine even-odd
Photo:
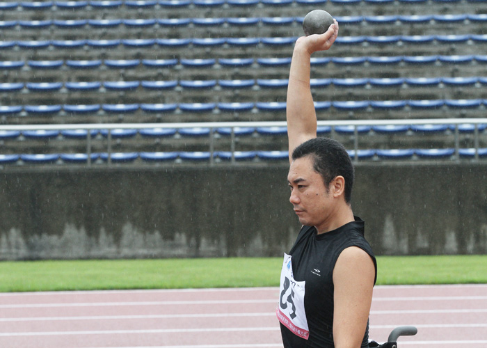
[[(281, 258), (0, 262), (0, 292), (278, 286)], [(379, 257), (378, 285), (487, 283), (487, 255)]]

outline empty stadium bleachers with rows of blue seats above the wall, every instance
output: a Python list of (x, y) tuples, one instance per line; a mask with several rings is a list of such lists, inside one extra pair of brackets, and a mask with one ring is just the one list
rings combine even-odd
[[(3, 1), (1, 123), (285, 120), (292, 47), (314, 8), (340, 22), (333, 48), (312, 58), (319, 120), (485, 117), (487, 1)], [(337, 126), (321, 134), (337, 137), (363, 160), (484, 156), (483, 124), (440, 126), (371, 125), (360, 132)], [(250, 125), (252, 132), (245, 127), (231, 136), (221, 127), (189, 129), (4, 130), (0, 162), (287, 158), (282, 128)], [(439, 151), (426, 151), (431, 148)]]

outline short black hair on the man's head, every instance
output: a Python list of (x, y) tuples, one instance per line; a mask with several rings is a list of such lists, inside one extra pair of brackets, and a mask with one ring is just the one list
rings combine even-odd
[(330, 182), (335, 177), (338, 175), (344, 177), (344, 198), (345, 202), (350, 204), (355, 170), (349, 153), (346, 152), (344, 146), (330, 138), (310, 139), (294, 149), (292, 160), (306, 156), (312, 157), (313, 169), (323, 177), (327, 190)]

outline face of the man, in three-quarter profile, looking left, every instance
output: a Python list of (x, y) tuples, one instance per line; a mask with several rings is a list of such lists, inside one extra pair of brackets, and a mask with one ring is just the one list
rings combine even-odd
[(320, 230), (326, 225), (334, 209), (333, 196), (325, 187), (323, 177), (313, 169), (312, 157), (295, 159), (287, 175), (291, 196), (289, 202), (305, 226), (316, 226)]

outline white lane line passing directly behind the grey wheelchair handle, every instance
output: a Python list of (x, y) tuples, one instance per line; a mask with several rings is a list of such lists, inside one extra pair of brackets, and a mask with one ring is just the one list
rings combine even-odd
[[(371, 325), (370, 329), (394, 329), (401, 325)], [(416, 325), (422, 329), (449, 329), (449, 328), (483, 328), (487, 324), (422, 324)], [(279, 326), (269, 327), (232, 327), (232, 328), (198, 328), (198, 329), (143, 329), (143, 330), (90, 330), (90, 331), (31, 331), (31, 332), (3, 332), (0, 337), (15, 336), (58, 336), (58, 335), (117, 335), (141, 333), (208, 333), (208, 332), (239, 332), (239, 331), (277, 331)]]

